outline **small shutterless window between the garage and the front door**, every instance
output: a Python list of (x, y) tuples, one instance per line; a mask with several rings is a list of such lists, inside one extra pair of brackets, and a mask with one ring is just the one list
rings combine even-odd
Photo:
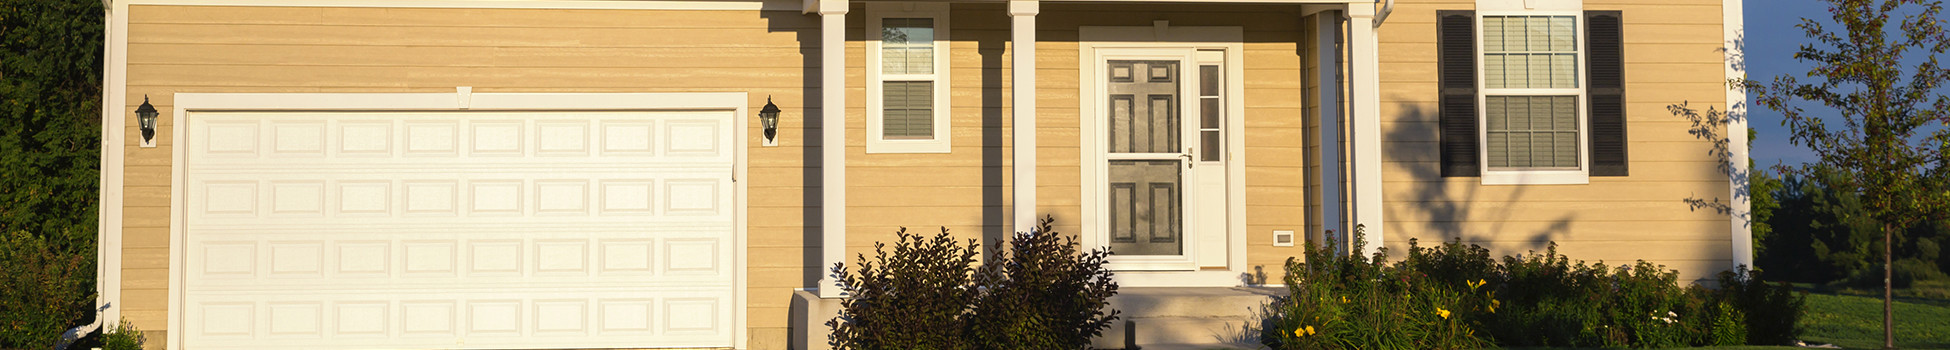
[(868, 4), (868, 153), (948, 153), (948, 4)]

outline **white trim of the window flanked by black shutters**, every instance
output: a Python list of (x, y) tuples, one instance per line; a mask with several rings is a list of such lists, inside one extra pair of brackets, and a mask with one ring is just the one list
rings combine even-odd
[[(1572, 2), (1576, 6), (1576, 2)], [(1484, 49), (1482, 49), (1482, 18), (1496, 16), (1572, 16), (1576, 18), (1576, 41), (1578, 41), (1578, 88), (1488, 88), (1490, 78), (1476, 78), (1476, 164), (1482, 164), (1482, 184), (1486, 186), (1517, 186), (1517, 184), (1591, 184), (1591, 117), (1585, 106), (1591, 104), (1587, 88), (1591, 86), (1589, 68), (1585, 61), (1589, 59), (1589, 49), (1585, 49), (1585, 18), (1583, 10), (1562, 8), (1562, 10), (1478, 10), (1476, 12), (1476, 74), (1484, 72)], [(1578, 168), (1537, 168), (1537, 170), (1513, 170), (1513, 168), (1490, 168), (1490, 123), (1488, 123), (1488, 98), (1490, 96), (1578, 96)]]

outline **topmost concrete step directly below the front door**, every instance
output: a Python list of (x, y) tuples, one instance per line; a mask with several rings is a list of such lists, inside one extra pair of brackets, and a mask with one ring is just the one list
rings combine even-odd
[(1285, 293), (1285, 287), (1119, 287), (1110, 307), (1119, 319), (1260, 317), (1260, 305)]

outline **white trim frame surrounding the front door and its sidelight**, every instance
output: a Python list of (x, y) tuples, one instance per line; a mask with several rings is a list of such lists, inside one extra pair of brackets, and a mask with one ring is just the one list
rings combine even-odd
[[(1238, 278), (1211, 278), (1215, 274), (1240, 276), (1246, 274), (1246, 141), (1242, 117), (1244, 108), (1244, 29), (1242, 27), (1172, 27), (1168, 22), (1154, 22), (1149, 27), (1080, 27), (1078, 33), (1078, 57), (1098, 57), (1098, 49), (1145, 49), (1145, 47), (1176, 47), (1176, 49), (1211, 49), (1225, 51), (1225, 102), (1227, 102), (1227, 266), (1225, 272), (1217, 270), (1195, 270), (1195, 272), (1127, 272), (1119, 276), (1156, 276), (1156, 278), (1119, 278), (1119, 284), (1133, 287), (1164, 287), (1164, 285), (1240, 285), (1244, 280)], [(1197, 61), (1190, 61), (1197, 63)], [(1078, 63), (1078, 96), (1092, 96), (1102, 88), (1096, 82), (1098, 63)], [(1096, 117), (1096, 104), (1078, 104), (1082, 117), (1078, 117), (1080, 133), (1088, 135), (1102, 133)], [(1092, 164), (1102, 156), (1104, 151), (1098, 143), (1082, 143), (1080, 164)], [(1084, 219), (1082, 241), (1086, 246), (1106, 246), (1102, 242), (1104, 231), (1108, 229), (1108, 217), (1102, 211), (1104, 190), (1088, 184), (1098, 184), (1104, 176), (1096, 166), (1080, 166), (1082, 199), (1084, 199)], [(1190, 246), (1188, 246), (1190, 250)], [(1176, 276), (1176, 278), (1174, 278)]]

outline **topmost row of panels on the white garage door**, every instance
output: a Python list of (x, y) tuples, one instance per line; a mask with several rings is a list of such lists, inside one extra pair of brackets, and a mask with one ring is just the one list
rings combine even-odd
[(230, 113), (191, 160), (220, 164), (525, 162), (655, 158), (731, 162), (729, 111), (583, 113)]

